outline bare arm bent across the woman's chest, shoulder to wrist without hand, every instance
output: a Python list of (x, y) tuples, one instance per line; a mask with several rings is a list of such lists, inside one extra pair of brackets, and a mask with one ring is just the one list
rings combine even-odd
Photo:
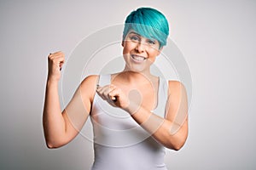
[(125, 111), (131, 113), (138, 124), (167, 148), (180, 150), (183, 147), (188, 137), (188, 101), (181, 82), (169, 81), (165, 118), (136, 104), (130, 105)]

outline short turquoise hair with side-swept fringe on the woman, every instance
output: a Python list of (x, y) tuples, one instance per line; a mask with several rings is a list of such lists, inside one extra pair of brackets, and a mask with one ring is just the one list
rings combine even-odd
[(154, 8), (137, 8), (126, 17), (123, 40), (128, 31), (134, 30), (147, 38), (160, 42), (160, 48), (166, 45), (169, 35), (169, 25), (164, 14)]

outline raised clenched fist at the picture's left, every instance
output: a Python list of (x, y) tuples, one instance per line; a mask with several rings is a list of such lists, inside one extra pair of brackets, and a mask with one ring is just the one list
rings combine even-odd
[(49, 54), (48, 56), (48, 79), (59, 81), (61, 78), (61, 68), (65, 61), (65, 54), (61, 51)]

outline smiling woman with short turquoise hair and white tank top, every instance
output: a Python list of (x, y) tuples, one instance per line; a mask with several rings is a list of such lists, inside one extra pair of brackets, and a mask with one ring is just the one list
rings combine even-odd
[(62, 112), (58, 82), (64, 54), (49, 54), (43, 116), (47, 146), (70, 142), (90, 116), (95, 149), (91, 169), (166, 169), (165, 148), (179, 150), (188, 136), (183, 84), (150, 73), (168, 35), (166, 17), (156, 9), (131, 12), (121, 44), (124, 71), (84, 78)]

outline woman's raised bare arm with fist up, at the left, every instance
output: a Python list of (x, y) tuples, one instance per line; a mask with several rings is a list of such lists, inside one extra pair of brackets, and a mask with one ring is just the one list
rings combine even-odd
[(65, 56), (61, 52), (49, 54), (48, 78), (46, 83), (43, 126), (44, 138), (49, 148), (58, 148), (70, 142), (83, 127), (90, 114), (96, 92), (97, 76), (86, 77), (79, 85), (64, 111), (58, 94), (58, 82)]

